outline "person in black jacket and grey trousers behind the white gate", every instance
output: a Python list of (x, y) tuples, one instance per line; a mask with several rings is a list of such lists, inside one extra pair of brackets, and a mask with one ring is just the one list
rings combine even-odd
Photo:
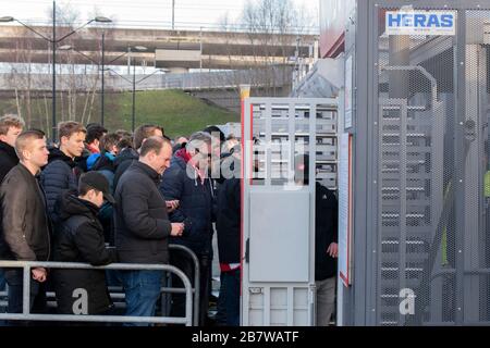
[[(308, 185), (309, 156), (295, 158), (296, 183)], [(315, 281), (317, 286), (317, 326), (328, 326), (335, 308), (338, 211), (335, 195), (315, 183)]]

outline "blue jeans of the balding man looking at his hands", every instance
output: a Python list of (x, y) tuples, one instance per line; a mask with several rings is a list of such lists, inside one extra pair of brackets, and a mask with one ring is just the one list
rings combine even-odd
[[(121, 274), (126, 296), (125, 315), (155, 316), (163, 271), (124, 271)], [(149, 326), (149, 323), (125, 323), (124, 326)]]

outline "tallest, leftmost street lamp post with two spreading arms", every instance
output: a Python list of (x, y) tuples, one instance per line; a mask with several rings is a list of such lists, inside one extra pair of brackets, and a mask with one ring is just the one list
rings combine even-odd
[(70, 32), (69, 34), (60, 37), (59, 39), (57, 39), (57, 32), (56, 32), (56, 23), (57, 23), (57, 3), (56, 1), (52, 2), (52, 37), (46, 37), (45, 35), (42, 35), (41, 33), (37, 32), (35, 28), (28, 26), (27, 24), (19, 21), (17, 18), (14, 18), (13, 16), (3, 16), (0, 17), (0, 23), (5, 23), (5, 22), (16, 22), (19, 24), (21, 24), (22, 26), (26, 27), (27, 29), (29, 29), (30, 32), (33, 32), (34, 34), (36, 34), (37, 36), (41, 37), (42, 39), (45, 39), (46, 41), (52, 44), (52, 139), (56, 140), (57, 139), (57, 70), (56, 70), (56, 64), (57, 64), (57, 45), (61, 41), (63, 41), (65, 38), (68, 38), (69, 36), (75, 34), (76, 32), (78, 32), (79, 29), (84, 28), (85, 26), (87, 26), (88, 24), (93, 23), (93, 22), (98, 22), (98, 23), (109, 23), (112, 22), (111, 20), (103, 17), (103, 16), (96, 16), (95, 18), (88, 21), (87, 23), (85, 23), (84, 25), (82, 25), (81, 27), (73, 29), (72, 32)]

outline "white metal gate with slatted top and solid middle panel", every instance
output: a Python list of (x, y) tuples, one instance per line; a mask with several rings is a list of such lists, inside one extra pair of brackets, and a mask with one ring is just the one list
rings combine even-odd
[[(315, 182), (336, 188), (335, 99), (244, 102), (242, 325), (315, 325)], [(296, 156), (309, 154), (298, 184)]]

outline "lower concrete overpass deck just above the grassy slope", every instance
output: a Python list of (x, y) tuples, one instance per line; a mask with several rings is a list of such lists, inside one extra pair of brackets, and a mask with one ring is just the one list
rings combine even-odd
[[(246, 71), (204, 72), (185, 74), (136, 75), (136, 90), (181, 89), (193, 96), (210, 101), (235, 113), (240, 113), (240, 88), (242, 84), (252, 86), (252, 95), (285, 97), (291, 91), (293, 69), (257, 69)], [(15, 98), (16, 91), (29, 90), (36, 96), (51, 98), (51, 76), (49, 74), (0, 73), (0, 97)], [(133, 75), (106, 74), (106, 94), (132, 91)], [(94, 90), (95, 89), (95, 90)], [(100, 74), (58, 74), (58, 92), (100, 94)]]

